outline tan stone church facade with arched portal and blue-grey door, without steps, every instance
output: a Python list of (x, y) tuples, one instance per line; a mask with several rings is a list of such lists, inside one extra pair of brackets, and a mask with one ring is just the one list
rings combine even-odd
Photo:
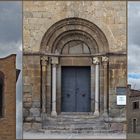
[(24, 130), (83, 114), (124, 131), (126, 2), (24, 1), (23, 15)]

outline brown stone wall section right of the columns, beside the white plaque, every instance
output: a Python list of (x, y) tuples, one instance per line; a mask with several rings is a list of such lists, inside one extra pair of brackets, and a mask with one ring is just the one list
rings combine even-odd
[(110, 56), (109, 60), (109, 115), (126, 117), (126, 108), (117, 105), (116, 87), (126, 87), (127, 85), (127, 57)]

